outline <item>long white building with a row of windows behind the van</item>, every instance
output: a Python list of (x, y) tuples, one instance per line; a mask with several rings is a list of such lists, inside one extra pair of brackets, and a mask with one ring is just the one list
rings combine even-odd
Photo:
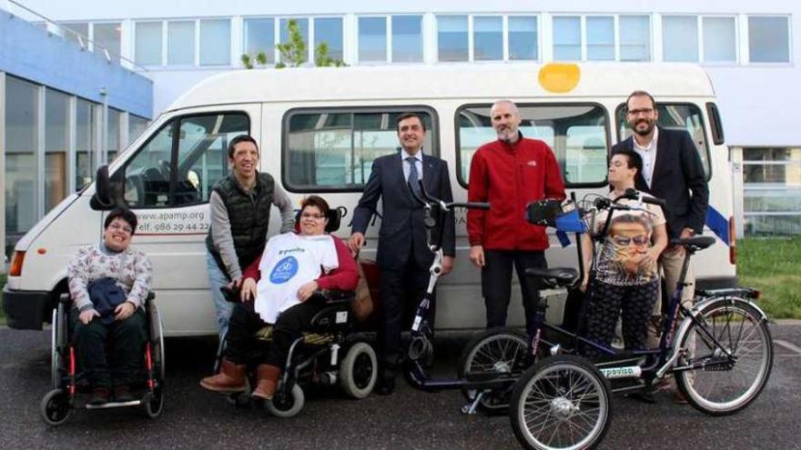
[[(154, 93), (146, 118), (210, 75), (244, 70), (242, 55), (264, 53), (263, 69), (273, 70), (290, 19), (309, 61), (324, 42), (348, 65), (698, 64), (724, 118), (742, 193), (739, 229), (801, 232), (801, 134), (792, 113), (801, 104), (797, 2), (18, 1), (76, 32), (64, 34), (76, 45), (99, 45), (114, 62), (146, 73)], [(0, 7), (19, 6), (0, 0)]]

